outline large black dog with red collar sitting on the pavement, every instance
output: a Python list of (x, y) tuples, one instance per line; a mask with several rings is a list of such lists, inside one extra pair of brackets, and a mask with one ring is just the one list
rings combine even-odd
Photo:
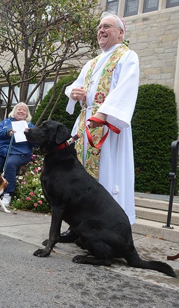
[(40, 180), (52, 207), (49, 241), (44, 249), (34, 252), (35, 256), (50, 255), (64, 220), (79, 235), (76, 244), (91, 255), (76, 256), (74, 262), (110, 266), (113, 258), (125, 258), (129, 266), (176, 277), (168, 264), (139, 257), (127, 215), (108, 191), (87, 174), (71, 143), (72, 136), (62, 123), (46, 121), (25, 134), (29, 142), (39, 144), (41, 152), (46, 153)]

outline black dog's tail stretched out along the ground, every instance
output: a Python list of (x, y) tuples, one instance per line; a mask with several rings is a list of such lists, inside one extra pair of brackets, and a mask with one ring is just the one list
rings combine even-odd
[(139, 257), (138, 252), (136, 251), (136, 248), (125, 259), (126, 259), (129, 266), (138, 267), (138, 268), (153, 269), (154, 271), (162, 272), (164, 274), (167, 274), (168, 276), (177, 277), (175, 272), (173, 271), (172, 267), (170, 265), (168, 265), (167, 263), (164, 263), (164, 262), (161, 262), (161, 261), (145, 261), (145, 260), (142, 260)]

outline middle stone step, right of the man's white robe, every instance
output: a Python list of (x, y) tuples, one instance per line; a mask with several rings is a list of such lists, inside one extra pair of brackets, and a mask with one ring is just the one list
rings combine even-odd
[[(151, 221), (158, 221), (163, 224), (167, 223), (168, 211), (154, 209), (149, 207), (136, 206), (136, 217)], [(179, 226), (179, 213), (172, 211), (171, 224)]]

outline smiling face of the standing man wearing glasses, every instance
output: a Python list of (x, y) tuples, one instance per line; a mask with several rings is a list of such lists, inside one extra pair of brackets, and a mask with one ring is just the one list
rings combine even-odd
[(99, 27), (98, 44), (103, 50), (107, 50), (115, 44), (122, 43), (123, 30), (117, 29), (116, 17), (106, 16), (102, 18)]

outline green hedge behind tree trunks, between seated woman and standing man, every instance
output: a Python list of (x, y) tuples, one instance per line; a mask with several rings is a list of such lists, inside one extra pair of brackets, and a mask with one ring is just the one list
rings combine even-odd
[[(53, 100), (53, 102), (51, 104), (51, 107), (47, 110), (47, 112), (44, 115), (42, 121), (48, 120), (49, 114), (50, 114), (50, 112), (52, 110), (52, 107), (54, 106), (54, 104), (56, 102), (56, 99), (58, 98), (58, 95), (59, 95), (63, 85), (68, 84), (68, 83), (70, 83), (72, 81), (74, 81), (74, 76), (68, 75), (68, 76), (65, 76), (65, 77), (61, 78), (57, 82), (57, 84), (56, 84), (56, 95), (55, 95), (54, 100)], [(53, 91), (53, 88), (51, 88), (49, 90), (47, 95), (44, 97), (44, 99), (42, 100), (42, 102), (38, 106), (38, 108), (37, 108), (37, 110), (35, 112), (34, 118), (33, 118), (33, 123), (37, 122), (37, 120), (40, 117), (42, 111), (47, 106), (48, 102), (50, 101), (50, 99), (52, 97), (52, 91)], [(80, 104), (77, 102), (76, 105), (75, 105), (74, 113), (73, 114), (69, 114), (65, 110), (66, 106), (68, 104), (68, 101), (69, 101), (69, 98), (66, 97), (66, 95), (64, 94), (64, 91), (63, 91), (63, 93), (61, 95), (61, 99), (58, 102), (58, 104), (57, 104), (57, 106), (56, 106), (56, 108), (54, 110), (54, 113), (53, 113), (53, 115), (51, 117), (51, 120), (63, 123), (69, 129), (69, 131), (71, 131), (73, 126), (74, 126), (74, 124), (75, 124), (75, 121), (76, 121), (76, 119), (78, 117), (78, 114), (80, 113), (81, 107), (80, 107)]]

